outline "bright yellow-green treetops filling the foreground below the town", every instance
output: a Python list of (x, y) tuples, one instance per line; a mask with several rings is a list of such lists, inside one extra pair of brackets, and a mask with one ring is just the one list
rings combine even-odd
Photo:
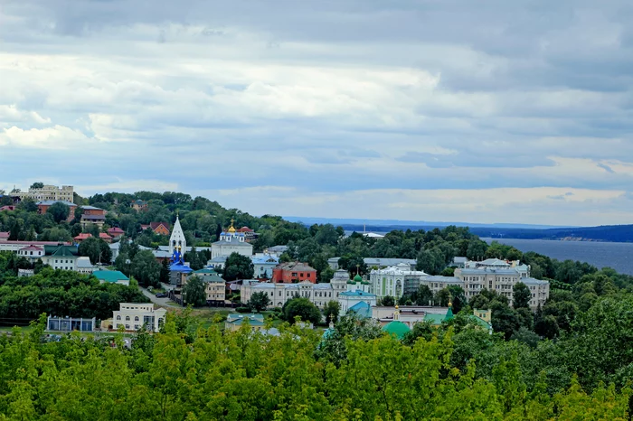
[[(348, 323), (354, 329), (354, 322)], [(372, 331), (371, 328), (367, 330)], [(316, 351), (312, 330), (281, 327), (279, 337), (218, 327), (194, 331), (169, 317), (164, 332), (139, 335), (131, 350), (117, 341), (40, 341), (43, 326), (0, 338), (0, 416), (6, 419), (108, 420), (412, 420), (628, 419), (628, 388), (575, 379), (547, 393), (543, 376), (529, 388), (515, 355), (491, 379), (477, 362), (458, 367), (451, 331), (411, 346), (373, 330), (345, 359)], [(371, 335), (371, 333), (370, 333)], [(491, 359), (491, 360), (493, 360)]]

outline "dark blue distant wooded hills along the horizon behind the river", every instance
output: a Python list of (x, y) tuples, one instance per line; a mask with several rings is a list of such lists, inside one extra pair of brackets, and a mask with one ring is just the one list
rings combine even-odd
[(448, 225), (469, 227), (479, 237), (493, 239), (563, 239), (574, 241), (633, 242), (633, 225), (603, 225), (599, 227), (553, 227), (529, 224), (469, 224), (466, 222), (426, 222), (408, 220), (345, 220), (326, 218), (284, 217), (306, 225), (332, 223), (347, 231), (386, 233), (393, 229), (442, 229)]

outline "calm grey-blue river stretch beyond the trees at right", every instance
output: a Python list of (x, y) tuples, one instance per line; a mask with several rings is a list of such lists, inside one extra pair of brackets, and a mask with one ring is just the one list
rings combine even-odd
[(595, 267), (612, 267), (620, 273), (633, 275), (633, 243), (557, 241), (549, 239), (483, 240), (488, 243), (495, 240), (518, 248), (523, 252), (535, 251), (558, 260), (580, 260)]

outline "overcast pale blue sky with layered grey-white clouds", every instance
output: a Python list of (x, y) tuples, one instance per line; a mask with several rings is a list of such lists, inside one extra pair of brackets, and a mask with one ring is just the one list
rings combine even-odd
[(629, 0), (0, 0), (0, 189), (633, 223)]

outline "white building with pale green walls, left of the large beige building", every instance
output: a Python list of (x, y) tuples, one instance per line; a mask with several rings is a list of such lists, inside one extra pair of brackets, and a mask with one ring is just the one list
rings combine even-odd
[(374, 269), (369, 274), (372, 293), (378, 298), (390, 295), (395, 299), (407, 292), (415, 291), (421, 281), (429, 275), (421, 270), (411, 270), (411, 266), (401, 263), (384, 269)]

